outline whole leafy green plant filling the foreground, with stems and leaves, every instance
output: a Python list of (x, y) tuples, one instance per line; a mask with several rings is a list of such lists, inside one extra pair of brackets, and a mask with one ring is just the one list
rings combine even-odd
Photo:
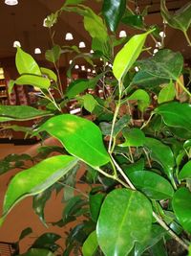
[[(176, 255), (188, 255), (191, 105), (189, 88), (180, 76), (190, 69), (183, 68), (180, 52), (165, 49), (163, 37), (158, 42), (157, 26), (144, 23), (146, 11), (134, 12), (125, 0), (104, 0), (97, 15), (83, 2), (66, 0), (60, 10), (47, 17), (46, 26), (52, 32), (62, 12), (82, 15), (84, 28), (92, 37), (93, 54), (81, 53), (76, 46), (53, 44), (46, 58), (53, 63), (55, 74), (39, 67), (32, 56), (17, 48), (20, 76), (10, 82), (9, 90), (14, 84), (38, 87), (44, 109), (1, 105), (0, 121), (39, 119), (32, 128), (11, 128), (42, 138), (52, 136), (63, 149), (42, 147), (32, 159), (32, 167), (11, 179), (1, 222), (18, 201), (32, 196), (32, 207), (46, 224), (45, 203), (53, 190), (63, 189), (63, 218), (53, 224), (64, 226), (74, 221), (63, 255), (173, 255), (175, 245), (180, 250), (176, 249)], [(187, 31), (191, 3), (171, 15), (161, 0), (160, 11), (165, 23), (181, 30), (190, 45)], [(120, 22), (139, 33), (117, 39)], [(158, 53), (153, 54), (153, 49), (145, 46), (148, 37), (158, 42)], [(94, 78), (72, 80), (63, 90), (57, 60), (69, 52), (74, 52), (74, 61), (84, 58), (93, 67), (97, 59), (103, 62)], [(74, 61), (67, 72), (70, 78)], [(96, 86), (101, 87), (103, 97), (86, 93)], [(58, 97), (53, 98), (51, 88)], [(72, 99), (90, 113), (93, 121), (66, 113)], [(59, 154), (48, 157), (53, 151)], [(23, 156), (15, 157), (19, 160)], [(81, 180), (89, 186), (88, 194), (77, 188), (75, 174), (80, 163), (85, 166)], [(75, 222), (78, 217), (83, 221)], [(41, 240), (24, 255), (56, 255), (57, 245), (53, 244), (59, 237), (52, 234), (50, 240), (50, 236), (45, 235), (48, 245), (43, 244), (46, 239)]]

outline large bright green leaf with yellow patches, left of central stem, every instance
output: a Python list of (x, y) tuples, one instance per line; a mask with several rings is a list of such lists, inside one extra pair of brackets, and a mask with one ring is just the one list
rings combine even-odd
[(89, 120), (63, 114), (49, 119), (40, 130), (49, 132), (67, 151), (91, 166), (102, 166), (110, 161), (99, 128)]

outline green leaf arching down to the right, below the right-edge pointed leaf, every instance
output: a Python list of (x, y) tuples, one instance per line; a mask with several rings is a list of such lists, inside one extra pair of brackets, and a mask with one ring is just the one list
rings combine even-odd
[(163, 172), (172, 178), (175, 159), (170, 147), (154, 138), (146, 138), (144, 146), (150, 151), (151, 158), (163, 167)]

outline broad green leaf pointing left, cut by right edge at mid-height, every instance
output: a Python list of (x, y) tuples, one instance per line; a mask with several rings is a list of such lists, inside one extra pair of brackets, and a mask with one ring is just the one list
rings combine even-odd
[(191, 105), (187, 103), (173, 102), (159, 105), (154, 112), (161, 115), (164, 123), (169, 127), (191, 130)]

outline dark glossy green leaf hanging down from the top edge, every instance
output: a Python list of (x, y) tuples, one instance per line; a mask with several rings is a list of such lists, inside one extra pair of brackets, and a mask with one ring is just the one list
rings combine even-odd
[(112, 32), (117, 30), (120, 19), (126, 9), (126, 0), (104, 0), (102, 13)]

